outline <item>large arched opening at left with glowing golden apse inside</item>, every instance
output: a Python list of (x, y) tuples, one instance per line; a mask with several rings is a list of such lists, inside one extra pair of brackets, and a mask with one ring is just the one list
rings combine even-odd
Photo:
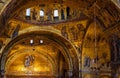
[[(78, 78), (79, 61), (74, 46), (59, 34), (50, 32), (51, 29), (33, 28), (37, 30), (21, 33), (4, 48), (2, 76)], [(40, 43), (40, 40), (44, 42)]]

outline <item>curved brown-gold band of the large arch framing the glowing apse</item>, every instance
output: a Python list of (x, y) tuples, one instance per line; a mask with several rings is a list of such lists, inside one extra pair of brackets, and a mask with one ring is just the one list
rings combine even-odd
[[(34, 29), (34, 30), (31, 30)], [(27, 29), (24, 29), (22, 31), (20, 31), (20, 34), (9, 41), (9, 43), (7, 44), (7, 46), (3, 49), (3, 53), (2, 53), (2, 59), (1, 59), (1, 70), (4, 70), (4, 65), (5, 65), (5, 60), (6, 60), (6, 57), (7, 57), (7, 54), (8, 54), (8, 51), (11, 49), (11, 46), (15, 45), (17, 42), (19, 42), (19, 40), (23, 39), (26, 37), (26, 35), (29, 35), (29, 36), (34, 36), (34, 35), (42, 35), (42, 36), (46, 36), (48, 37), (48, 39), (51, 39), (52, 41), (58, 43), (59, 45), (61, 45), (65, 52), (66, 52), (66, 58), (67, 58), (67, 61), (69, 63), (69, 70), (70, 71), (73, 71), (73, 61), (76, 60), (75, 64), (77, 66), (79, 66), (78, 64), (78, 53), (77, 53), (77, 50), (75, 49), (74, 45), (66, 40), (65, 38), (63, 38), (60, 34), (59, 31), (57, 31), (56, 29), (53, 29), (51, 27), (30, 27), (30, 28), (27, 28)], [(74, 58), (74, 60), (72, 59)], [(79, 69), (77, 69), (79, 71)]]

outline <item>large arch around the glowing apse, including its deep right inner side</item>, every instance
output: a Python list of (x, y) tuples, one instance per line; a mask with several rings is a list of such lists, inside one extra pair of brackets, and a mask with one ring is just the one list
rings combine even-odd
[[(65, 73), (66, 73), (65, 77), (79, 78), (79, 63), (78, 63), (79, 61), (78, 61), (77, 51), (74, 48), (74, 46), (68, 40), (63, 38), (59, 33), (55, 33), (56, 30), (54, 30), (52, 28), (48, 28), (48, 27), (33, 27), (33, 28), (34, 28), (34, 30), (29, 30), (29, 28), (27, 28), (27, 29), (23, 30), (25, 32), (21, 31), (21, 33), (17, 37), (13, 38), (7, 44), (7, 46), (4, 48), (4, 50), (2, 52), (2, 57), (1, 57), (1, 71), (2, 71), (1, 74), (2, 75), (6, 74), (5, 66), (6, 66), (6, 62), (8, 61), (8, 56), (10, 54), (10, 50), (12, 50), (12, 47), (16, 46), (18, 43), (21, 43), (23, 40), (27, 41), (32, 38), (33, 39), (41, 38), (41, 39), (46, 39), (45, 41), (54, 43), (54, 46), (58, 46), (58, 49), (60, 49), (60, 51), (59, 51), (59, 53), (61, 54), (60, 57), (63, 57), (63, 60), (65, 60), (65, 62), (67, 63), (66, 64), (67, 69), (65, 70)], [(27, 32), (26, 30), (29, 30), (29, 32)], [(36, 45), (37, 44), (33, 44), (30, 46), (33, 47)], [(34, 49), (32, 49), (32, 50), (34, 50)], [(25, 51), (25, 49), (24, 49), (24, 51)], [(36, 54), (33, 54), (33, 55), (36, 55)], [(25, 56), (23, 55), (23, 57), (25, 57)], [(53, 62), (53, 64), (54, 64), (54, 62)], [(53, 66), (53, 68), (54, 67), (55, 66)], [(58, 66), (56, 65), (56, 67), (58, 67)], [(54, 73), (54, 77), (56, 77), (56, 76), (59, 76), (59, 74)]]

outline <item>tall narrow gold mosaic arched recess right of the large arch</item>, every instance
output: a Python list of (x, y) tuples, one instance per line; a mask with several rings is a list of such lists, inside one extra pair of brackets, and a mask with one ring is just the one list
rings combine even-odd
[(95, 73), (82, 72), (82, 77), (99, 78), (98, 71), (111, 70), (110, 46), (107, 38), (101, 32), (102, 28), (96, 22), (91, 23), (87, 30), (82, 46), (82, 70)]

